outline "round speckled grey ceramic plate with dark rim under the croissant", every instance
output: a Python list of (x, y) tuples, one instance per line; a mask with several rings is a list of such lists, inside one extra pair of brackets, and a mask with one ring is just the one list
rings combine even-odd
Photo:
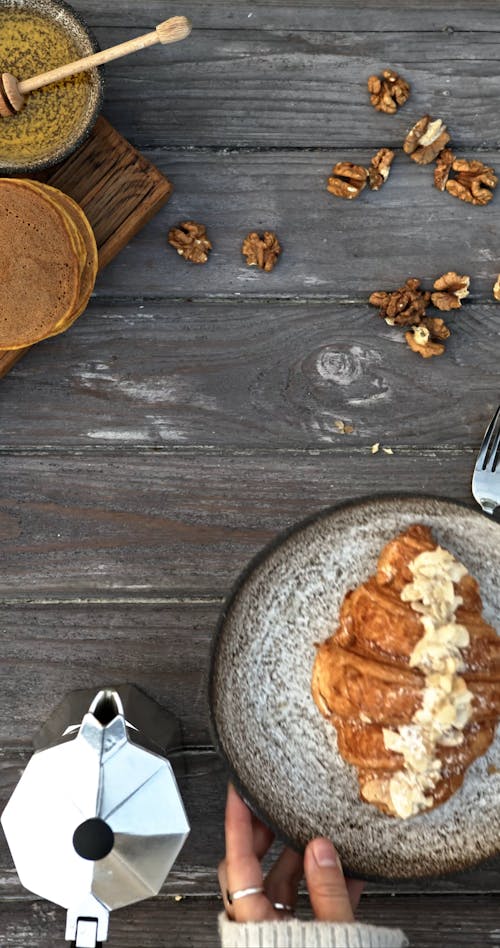
[(332, 633), (344, 594), (375, 570), (382, 546), (416, 522), (477, 577), (498, 629), (500, 526), (437, 498), (378, 497), (321, 512), (264, 550), (226, 604), (212, 656), (212, 726), (242, 795), (296, 847), (330, 837), (361, 876), (454, 872), (500, 850), (500, 728), (453, 797), (396, 820), (360, 800), (355, 769), (311, 697), (314, 643)]

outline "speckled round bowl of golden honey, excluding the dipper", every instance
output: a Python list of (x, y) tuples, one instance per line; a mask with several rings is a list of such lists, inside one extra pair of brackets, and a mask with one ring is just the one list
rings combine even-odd
[[(61, 0), (0, 0), (0, 73), (28, 79), (98, 48)], [(92, 130), (102, 92), (97, 69), (32, 92), (21, 112), (0, 118), (0, 174), (32, 174), (71, 154)]]

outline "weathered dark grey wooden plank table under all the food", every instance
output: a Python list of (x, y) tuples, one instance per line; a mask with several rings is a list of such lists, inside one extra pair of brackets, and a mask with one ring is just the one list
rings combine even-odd
[[(463, 204), (398, 152), (379, 193), (327, 194), (340, 159), (400, 148), (425, 112), (500, 170), (497, 0), (78, 0), (101, 44), (192, 17), (185, 43), (113, 64), (105, 114), (174, 197), (100, 277), (87, 314), (1, 382), (0, 806), (30, 737), (77, 687), (133, 681), (190, 746), (191, 838), (162, 896), (112, 917), (116, 946), (215, 946), (225, 775), (207, 727), (221, 603), (277, 531), (373, 491), (470, 499), (499, 400), (499, 201)], [(417, 9), (415, 9), (417, 7)], [(412, 83), (395, 117), (366, 79)], [(166, 246), (207, 225), (196, 267)], [(240, 255), (275, 229), (271, 274)], [(408, 276), (472, 277), (446, 354), (424, 361), (367, 305)], [(354, 426), (342, 435), (335, 426)], [(373, 456), (380, 441), (394, 454)], [(21, 889), (0, 843), (0, 945), (63, 945), (64, 913)], [(500, 861), (370, 886), (360, 915), (419, 948), (500, 945)]]

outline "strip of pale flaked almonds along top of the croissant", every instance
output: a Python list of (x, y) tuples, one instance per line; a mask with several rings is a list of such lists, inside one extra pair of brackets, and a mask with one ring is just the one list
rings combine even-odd
[(411, 724), (383, 729), (385, 747), (404, 758), (404, 767), (389, 782), (391, 805), (402, 819), (432, 806), (432, 790), (441, 775), (437, 747), (463, 742), (473, 698), (459, 675), (465, 668), (462, 650), (470, 637), (456, 621), (462, 599), (454, 585), (467, 570), (438, 546), (415, 557), (410, 571), (413, 581), (403, 587), (401, 599), (419, 613), (423, 627), (410, 656), (410, 666), (425, 675), (422, 705)]

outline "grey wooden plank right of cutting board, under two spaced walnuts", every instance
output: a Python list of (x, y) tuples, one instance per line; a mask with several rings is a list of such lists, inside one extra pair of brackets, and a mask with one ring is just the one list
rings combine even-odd
[[(441, 194), (429, 168), (399, 153), (381, 191), (355, 201), (327, 192), (335, 162), (368, 163), (373, 153), (147, 152), (174, 182), (174, 195), (101, 275), (98, 297), (360, 300), (408, 276), (432, 287), (454, 269), (471, 276), (472, 299), (498, 305), (492, 287), (500, 269), (500, 188), (488, 207), (473, 207)], [(500, 172), (498, 152), (481, 157)], [(205, 224), (213, 242), (203, 266), (167, 246), (169, 228), (186, 219)], [(282, 242), (272, 273), (256, 272), (242, 257), (253, 229), (275, 230)]]

